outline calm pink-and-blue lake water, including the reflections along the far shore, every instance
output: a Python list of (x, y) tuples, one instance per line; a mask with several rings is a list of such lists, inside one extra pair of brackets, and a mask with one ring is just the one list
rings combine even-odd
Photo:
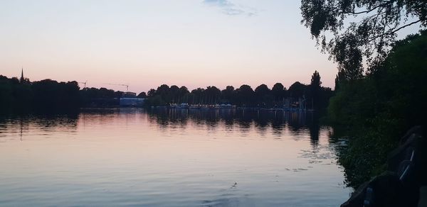
[(311, 113), (83, 111), (0, 119), (0, 206), (339, 206)]

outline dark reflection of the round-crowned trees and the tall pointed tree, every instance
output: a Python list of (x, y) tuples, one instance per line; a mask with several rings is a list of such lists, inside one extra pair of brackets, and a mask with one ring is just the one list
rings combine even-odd
[(317, 147), (320, 137), (319, 117), (314, 112), (156, 108), (149, 111), (149, 121), (162, 128), (170, 125), (184, 127), (189, 123), (210, 130), (218, 125), (223, 125), (226, 130), (234, 130), (237, 126), (242, 133), (254, 128), (261, 135), (270, 129), (278, 138), (287, 131), (294, 135), (309, 133), (313, 147)]

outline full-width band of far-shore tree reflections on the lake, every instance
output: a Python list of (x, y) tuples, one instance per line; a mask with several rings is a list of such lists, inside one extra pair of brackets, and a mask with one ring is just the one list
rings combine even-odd
[(321, 128), (318, 116), (311, 112), (179, 108), (156, 108), (152, 111), (136, 108), (90, 109), (63, 115), (1, 117), (0, 125), (3, 128), (8, 128), (8, 125), (19, 125), (20, 127), (14, 130), (17, 130), (16, 133), (21, 137), (25, 137), (30, 128), (38, 128), (46, 132), (63, 128), (73, 132), (78, 125), (85, 127), (94, 123), (112, 123), (117, 121), (117, 118), (120, 118), (120, 121), (126, 121), (126, 124), (128, 121), (135, 123), (135, 120), (141, 117), (147, 118), (150, 124), (160, 130), (194, 125), (207, 130), (222, 129), (229, 132), (238, 130), (243, 134), (255, 130), (260, 136), (270, 130), (275, 138), (279, 139), (285, 133), (291, 133), (297, 139), (310, 135), (310, 143), (314, 148), (319, 145)]

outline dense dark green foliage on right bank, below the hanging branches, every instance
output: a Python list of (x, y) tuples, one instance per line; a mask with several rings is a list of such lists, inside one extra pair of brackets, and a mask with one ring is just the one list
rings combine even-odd
[(388, 153), (413, 125), (427, 127), (427, 33), (394, 44), (376, 72), (339, 82), (329, 117), (350, 135), (339, 156), (350, 186), (385, 169)]

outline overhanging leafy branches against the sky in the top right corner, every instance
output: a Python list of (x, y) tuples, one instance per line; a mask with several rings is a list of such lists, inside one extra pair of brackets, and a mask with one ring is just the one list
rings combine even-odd
[(301, 23), (344, 79), (362, 77), (364, 57), (369, 72), (383, 62), (402, 28), (427, 27), (426, 0), (302, 0), (300, 9)]

